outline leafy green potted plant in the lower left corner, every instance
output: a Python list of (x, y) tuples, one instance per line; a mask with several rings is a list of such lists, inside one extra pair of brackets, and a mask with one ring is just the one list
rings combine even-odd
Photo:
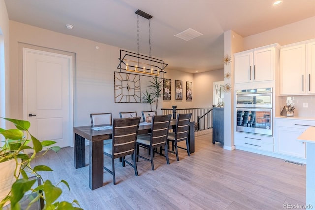
[[(36, 193), (36, 196), (28, 203), (27, 209), (39, 199), (44, 201), (43, 209), (45, 210), (81, 209), (76, 200), (73, 200), (71, 203), (67, 201), (57, 201), (62, 194), (62, 190), (57, 186), (63, 183), (69, 188), (69, 185), (65, 180), (61, 180), (56, 186), (49, 180), (43, 180), (39, 172), (53, 171), (50, 167), (45, 165), (31, 166), (31, 162), (37, 157), (39, 152), (43, 151), (43, 148), (47, 149), (43, 155), (49, 150), (58, 152), (60, 147), (53, 146), (56, 142), (50, 140), (39, 141), (32, 136), (28, 130), (30, 128), (29, 121), (9, 118), (3, 119), (12, 122), (16, 129), (5, 130), (0, 128), (0, 133), (5, 137), (4, 145), (0, 147), (0, 164), (10, 161), (13, 163), (11, 168), (13, 167), (14, 169), (13, 174), (11, 173), (14, 183), (10, 187), (8, 194), (0, 201), (0, 209), (10, 202), (12, 210), (19, 210), (21, 208), (19, 202), (25, 196), (25, 193), (29, 191)], [(32, 147), (28, 145), (30, 141), (32, 141)], [(33, 153), (27, 155), (24, 153), (26, 150), (31, 150)], [(41, 179), (42, 185), (34, 187), (36, 179), (29, 178), (34, 175)]]

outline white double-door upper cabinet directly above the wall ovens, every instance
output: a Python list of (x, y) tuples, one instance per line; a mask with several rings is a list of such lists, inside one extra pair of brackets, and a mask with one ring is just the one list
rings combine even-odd
[(275, 46), (269, 45), (250, 51), (235, 53), (235, 83), (274, 80)]

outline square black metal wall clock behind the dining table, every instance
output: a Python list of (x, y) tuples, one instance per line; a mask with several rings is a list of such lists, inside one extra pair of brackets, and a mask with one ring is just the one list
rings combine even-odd
[(115, 103), (137, 103), (140, 97), (140, 75), (114, 72)]

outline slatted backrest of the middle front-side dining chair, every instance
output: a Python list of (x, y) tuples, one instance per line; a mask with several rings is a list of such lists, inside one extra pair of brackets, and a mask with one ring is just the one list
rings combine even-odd
[(152, 146), (166, 143), (171, 117), (171, 114), (152, 116), (150, 142)]

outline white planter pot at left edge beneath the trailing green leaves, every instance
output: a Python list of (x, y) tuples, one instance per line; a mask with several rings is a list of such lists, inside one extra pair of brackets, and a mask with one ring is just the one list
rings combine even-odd
[[(15, 159), (0, 163), (0, 201), (9, 194), (16, 180), (14, 177), (15, 164)], [(8, 203), (9, 202), (5, 203), (4, 206)]]

